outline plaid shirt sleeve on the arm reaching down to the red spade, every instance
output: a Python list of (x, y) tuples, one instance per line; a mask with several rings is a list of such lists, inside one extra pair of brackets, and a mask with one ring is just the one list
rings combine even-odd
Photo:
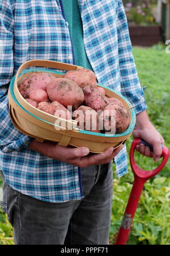
[(141, 88), (132, 53), (128, 22), (122, 0), (117, 6), (118, 56), (120, 65), (121, 94), (135, 106), (136, 114), (146, 110), (146, 103)]

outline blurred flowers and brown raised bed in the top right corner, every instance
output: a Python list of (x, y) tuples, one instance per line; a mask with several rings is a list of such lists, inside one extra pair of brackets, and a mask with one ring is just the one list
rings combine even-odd
[(124, 0), (133, 45), (151, 46), (170, 38), (170, 0)]

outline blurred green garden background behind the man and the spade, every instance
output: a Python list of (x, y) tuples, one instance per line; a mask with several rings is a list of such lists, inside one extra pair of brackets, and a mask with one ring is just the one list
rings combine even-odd
[[(124, 0), (133, 54), (141, 86), (147, 86), (145, 98), (150, 120), (163, 135), (170, 149), (170, 0)], [(170, 48), (168, 48), (170, 49)], [(127, 141), (129, 149), (133, 137)], [(135, 153), (135, 161), (145, 170), (160, 164)], [(114, 244), (128, 202), (133, 173), (117, 179), (113, 165), (113, 208), (110, 244)], [(0, 187), (2, 183), (0, 180)], [(12, 245), (13, 230), (0, 209), (0, 245)], [(170, 160), (167, 166), (145, 185), (134, 217), (128, 244), (170, 245)]]

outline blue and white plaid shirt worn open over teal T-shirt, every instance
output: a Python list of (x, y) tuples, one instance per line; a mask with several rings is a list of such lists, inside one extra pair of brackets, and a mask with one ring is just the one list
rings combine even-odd
[[(124, 95), (136, 114), (146, 109), (131, 52), (122, 0), (78, 0), (84, 47), (99, 83)], [(0, 163), (12, 188), (46, 202), (83, 197), (80, 169), (27, 149), (31, 138), (8, 115), (8, 83), (31, 59), (74, 64), (69, 27), (60, 0), (0, 3)], [(115, 158), (118, 177), (127, 173), (126, 147)]]

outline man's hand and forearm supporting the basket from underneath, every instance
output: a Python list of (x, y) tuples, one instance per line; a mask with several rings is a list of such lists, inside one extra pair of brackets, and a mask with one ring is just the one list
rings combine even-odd
[(109, 148), (102, 154), (91, 154), (88, 148), (65, 148), (49, 141), (41, 143), (33, 140), (28, 148), (54, 160), (79, 167), (88, 167), (109, 163), (120, 152), (123, 145), (117, 149)]

